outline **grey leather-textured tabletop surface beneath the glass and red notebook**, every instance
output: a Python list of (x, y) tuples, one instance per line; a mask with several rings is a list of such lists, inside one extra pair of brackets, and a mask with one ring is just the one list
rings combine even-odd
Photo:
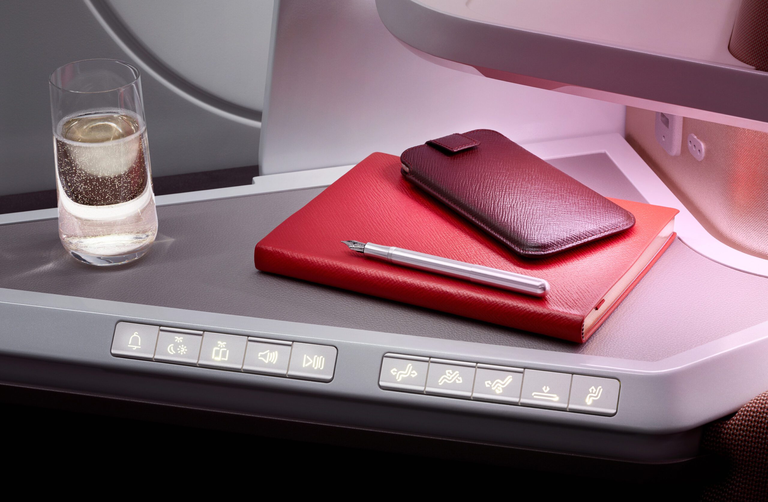
[[(639, 197), (602, 154), (552, 163), (604, 195)], [(0, 287), (647, 361), (768, 320), (768, 279), (680, 241), (583, 345), (256, 271), (253, 246), (320, 191), (157, 208), (151, 252), (109, 269), (69, 258), (55, 220), (0, 226)]]

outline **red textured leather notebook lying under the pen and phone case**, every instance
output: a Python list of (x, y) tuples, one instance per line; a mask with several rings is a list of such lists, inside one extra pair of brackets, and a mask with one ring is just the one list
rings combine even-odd
[[(340, 287), (520, 330), (584, 342), (674, 240), (677, 209), (611, 199), (635, 216), (621, 234), (547, 258), (521, 258), (400, 176), (373, 153), (256, 246), (260, 271)], [(545, 298), (365, 258), (374, 242), (549, 281)]]

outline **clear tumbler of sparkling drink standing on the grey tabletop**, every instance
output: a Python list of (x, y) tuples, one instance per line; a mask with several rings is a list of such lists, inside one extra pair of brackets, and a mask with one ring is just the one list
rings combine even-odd
[(139, 71), (111, 59), (51, 74), (58, 233), (79, 261), (141, 258), (157, 235)]

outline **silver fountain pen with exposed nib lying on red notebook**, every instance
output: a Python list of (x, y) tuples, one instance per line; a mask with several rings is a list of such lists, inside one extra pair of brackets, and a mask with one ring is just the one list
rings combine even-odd
[(371, 242), (367, 244), (358, 241), (342, 242), (349, 246), (349, 249), (365, 254), (369, 258), (389, 261), (404, 267), (418, 268), (422, 271), (457, 277), (465, 281), (500, 287), (503, 290), (530, 294), (539, 298), (545, 297), (549, 291), (549, 283), (538, 277), (515, 274), (514, 272), (502, 271), (498, 268), (484, 267), (482, 265), (473, 265), (432, 254), (395, 248), (394, 246), (382, 246), (380, 244), (372, 244)]

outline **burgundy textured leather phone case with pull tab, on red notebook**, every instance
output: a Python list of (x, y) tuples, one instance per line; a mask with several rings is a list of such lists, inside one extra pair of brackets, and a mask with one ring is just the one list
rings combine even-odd
[(634, 215), (493, 130), (407, 149), (402, 175), (513, 251), (574, 248), (634, 225)]

